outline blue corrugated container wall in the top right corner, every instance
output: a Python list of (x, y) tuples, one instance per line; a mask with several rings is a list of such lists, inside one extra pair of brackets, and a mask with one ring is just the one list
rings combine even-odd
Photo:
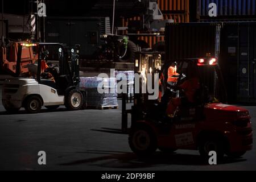
[[(216, 17), (209, 16), (209, 4), (216, 3)], [(197, 18), (209, 19), (244, 19), (255, 18), (256, 0), (197, 0)]]

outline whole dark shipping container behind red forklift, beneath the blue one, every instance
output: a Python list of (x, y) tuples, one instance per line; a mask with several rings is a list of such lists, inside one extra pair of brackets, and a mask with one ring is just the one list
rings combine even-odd
[(166, 26), (166, 61), (217, 57), (228, 102), (256, 104), (256, 22), (172, 23)]

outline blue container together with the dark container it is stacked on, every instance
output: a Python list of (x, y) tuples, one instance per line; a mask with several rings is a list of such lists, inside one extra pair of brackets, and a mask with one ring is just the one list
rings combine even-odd
[[(197, 23), (167, 25), (166, 59), (210, 52), (218, 57), (228, 102), (256, 104), (256, 0), (195, 2)], [(216, 16), (209, 16), (209, 11)]]

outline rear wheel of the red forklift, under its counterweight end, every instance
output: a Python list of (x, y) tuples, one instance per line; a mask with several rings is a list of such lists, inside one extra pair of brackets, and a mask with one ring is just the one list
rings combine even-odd
[(224, 156), (224, 142), (216, 136), (206, 136), (201, 139), (199, 143), (199, 152), (203, 159), (209, 159), (209, 152), (215, 151), (217, 154), (217, 160), (222, 160)]

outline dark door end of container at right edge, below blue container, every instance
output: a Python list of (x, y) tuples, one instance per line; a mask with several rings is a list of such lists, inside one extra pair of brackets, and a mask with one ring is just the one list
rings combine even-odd
[(229, 102), (256, 103), (256, 22), (225, 23), (220, 49)]

